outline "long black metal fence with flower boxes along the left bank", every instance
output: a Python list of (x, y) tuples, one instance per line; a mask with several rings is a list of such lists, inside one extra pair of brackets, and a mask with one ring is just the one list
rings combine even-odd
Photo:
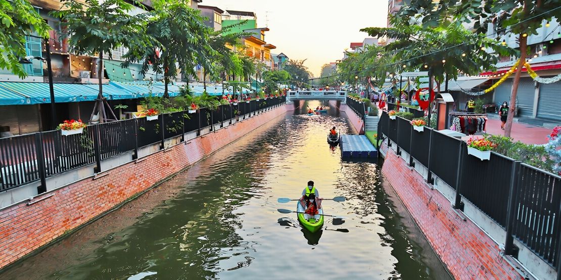
[[(45, 178), (101, 160), (163, 143), (165, 139), (196, 132), (211, 123), (228, 125), (236, 115), (258, 113), (279, 106), (284, 97), (269, 97), (238, 105), (220, 105), (216, 110), (201, 108), (196, 113), (178, 111), (146, 118), (88, 125), (81, 134), (62, 136), (58, 130), (0, 138), (0, 191), (41, 181), (38, 192), (45, 192)], [(38, 160), (41, 158), (43, 160)]]

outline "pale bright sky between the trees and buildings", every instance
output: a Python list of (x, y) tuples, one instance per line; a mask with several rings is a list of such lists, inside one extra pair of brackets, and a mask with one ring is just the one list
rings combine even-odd
[[(203, 0), (222, 10), (255, 12), (258, 27), (268, 26), (265, 41), (273, 53), (306, 59), (315, 76), (321, 66), (343, 57), (351, 41), (362, 42), (363, 27), (385, 27), (387, 0)], [(267, 24), (268, 23), (268, 24)]]

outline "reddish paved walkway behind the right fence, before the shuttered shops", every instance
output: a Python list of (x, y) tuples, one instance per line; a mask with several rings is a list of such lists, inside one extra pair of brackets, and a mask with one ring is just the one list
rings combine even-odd
[[(504, 130), (500, 129), (500, 120), (489, 118), (485, 129), (487, 133), (504, 136)], [(526, 144), (545, 144), (548, 142), (550, 128), (536, 127), (525, 123), (512, 123), (511, 137), (514, 141), (521, 141)], [(469, 139), (470, 137), (463, 137)]]

